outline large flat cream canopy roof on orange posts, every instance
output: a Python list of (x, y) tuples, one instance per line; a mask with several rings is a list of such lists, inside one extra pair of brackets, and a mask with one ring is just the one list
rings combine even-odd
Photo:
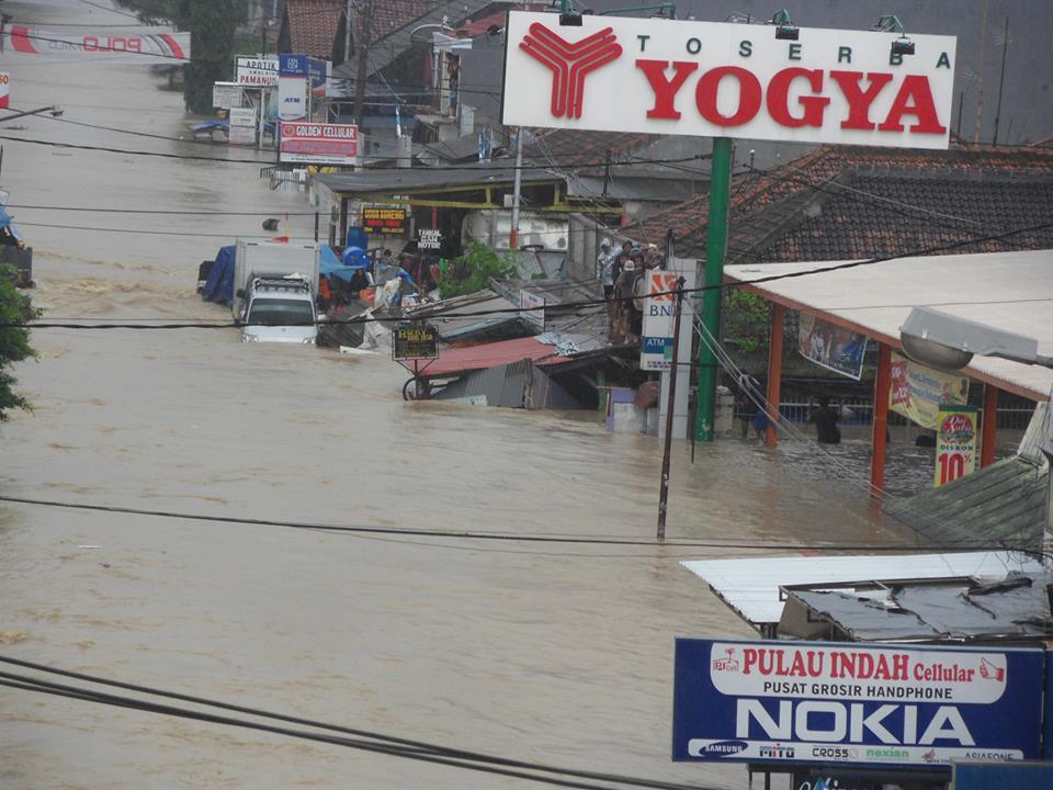
[[(779, 274), (823, 272), (848, 261), (732, 266), (750, 282)], [(897, 258), (841, 271), (757, 285), (794, 309), (850, 323), (898, 348), (899, 326), (919, 305), (1035, 337), (1053, 354), (1053, 250)], [(1053, 370), (994, 357), (974, 357), (965, 373), (1035, 400), (1049, 398)]]

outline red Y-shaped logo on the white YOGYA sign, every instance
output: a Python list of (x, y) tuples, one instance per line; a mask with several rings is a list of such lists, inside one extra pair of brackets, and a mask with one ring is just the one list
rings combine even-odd
[(585, 76), (622, 54), (611, 27), (570, 44), (540, 22), (530, 26), (519, 48), (552, 69), (552, 114), (556, 117), (581, 117)]

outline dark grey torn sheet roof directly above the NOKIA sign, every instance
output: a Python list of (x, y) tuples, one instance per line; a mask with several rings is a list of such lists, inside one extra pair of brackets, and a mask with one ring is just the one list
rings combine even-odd
[(786, 589), (781, 637), (852, 642), (1029, 641), (1053, 635), (1053, 575), (1010, 574), (993, 583), (862, 585)]

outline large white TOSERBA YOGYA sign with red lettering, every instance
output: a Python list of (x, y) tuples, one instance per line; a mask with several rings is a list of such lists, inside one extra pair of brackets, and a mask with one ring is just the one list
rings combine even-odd
[(947, 148), (955, 38), (512, 12), (502, 121), (703, 137)]

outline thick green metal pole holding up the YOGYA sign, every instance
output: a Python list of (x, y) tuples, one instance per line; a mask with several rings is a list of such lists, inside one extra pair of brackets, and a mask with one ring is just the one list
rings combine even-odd
[[(727, 246), (727, 194), (732, 180), (732, 140), (713, 139), (713, 160), (710, 172), (710, 222), (705, 236), (705, 287), (702, 292), (702, 325), (711, 337), (721, 336), (721, 301), (724, 292), (724, 252)], [(698, 411), (694, 438), (713, 441), (716, 414), (716, 356), (705, 342), (699, 347)]]

